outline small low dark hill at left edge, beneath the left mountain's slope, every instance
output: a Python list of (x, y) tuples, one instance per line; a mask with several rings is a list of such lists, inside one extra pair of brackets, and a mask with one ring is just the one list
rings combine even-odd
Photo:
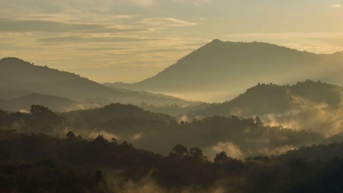
[(78, 102), (59, 96), (38, 93), (27, 94), (14, 99), (0, 100), (1, 109), (9, 111), (29, 111), (31, 105), (49, 106), (52, 111), (79, 109)]

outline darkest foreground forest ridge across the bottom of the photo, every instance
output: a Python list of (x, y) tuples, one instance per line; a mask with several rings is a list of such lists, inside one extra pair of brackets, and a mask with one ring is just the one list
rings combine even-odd
[(201, 149), (182, 145), (164, 157), (103, 136), (85, 140), (72, 132), (57, 138), (0, 130), (0, 191), (340, 192), (343, 159), (309, 149), (328, 161), (283, 155), (241, 161), (224, 151), (209, 161)]

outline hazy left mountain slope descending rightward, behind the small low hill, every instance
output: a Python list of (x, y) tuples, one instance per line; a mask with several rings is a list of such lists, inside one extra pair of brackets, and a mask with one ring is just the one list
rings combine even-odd
[[(106, 87), (74, 73), (36, 66), (19, 58), (0, 60), (0, 99), (9, 99), (18, 92), (55, 95), (75, 101), (120, 103), (146, 102), (156, 105), (192, 104), (193, 102), (147, 92), (129, 92)], [(1, 95), (2, 94), (2, 95)], [(24, 94), (23, 94), (24, 95)]]

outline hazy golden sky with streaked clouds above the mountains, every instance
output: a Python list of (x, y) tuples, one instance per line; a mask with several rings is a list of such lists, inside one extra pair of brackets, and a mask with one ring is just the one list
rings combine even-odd
[(155, 75), (210, 42), (343, 50), (343, 0), (1, 0), (0, 57), (98, 82)]

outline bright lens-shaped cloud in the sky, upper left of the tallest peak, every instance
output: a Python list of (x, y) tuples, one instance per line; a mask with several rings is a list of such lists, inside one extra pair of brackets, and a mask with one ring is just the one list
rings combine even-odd
[(140, 20), (136, 23), (143, 24), (146, 26), (156, 26), (156, 27), (182, 27), (182, 26), (197, 25), (197, 23), (178, 20), (175, 18), (147, 18), (147, 19)]

